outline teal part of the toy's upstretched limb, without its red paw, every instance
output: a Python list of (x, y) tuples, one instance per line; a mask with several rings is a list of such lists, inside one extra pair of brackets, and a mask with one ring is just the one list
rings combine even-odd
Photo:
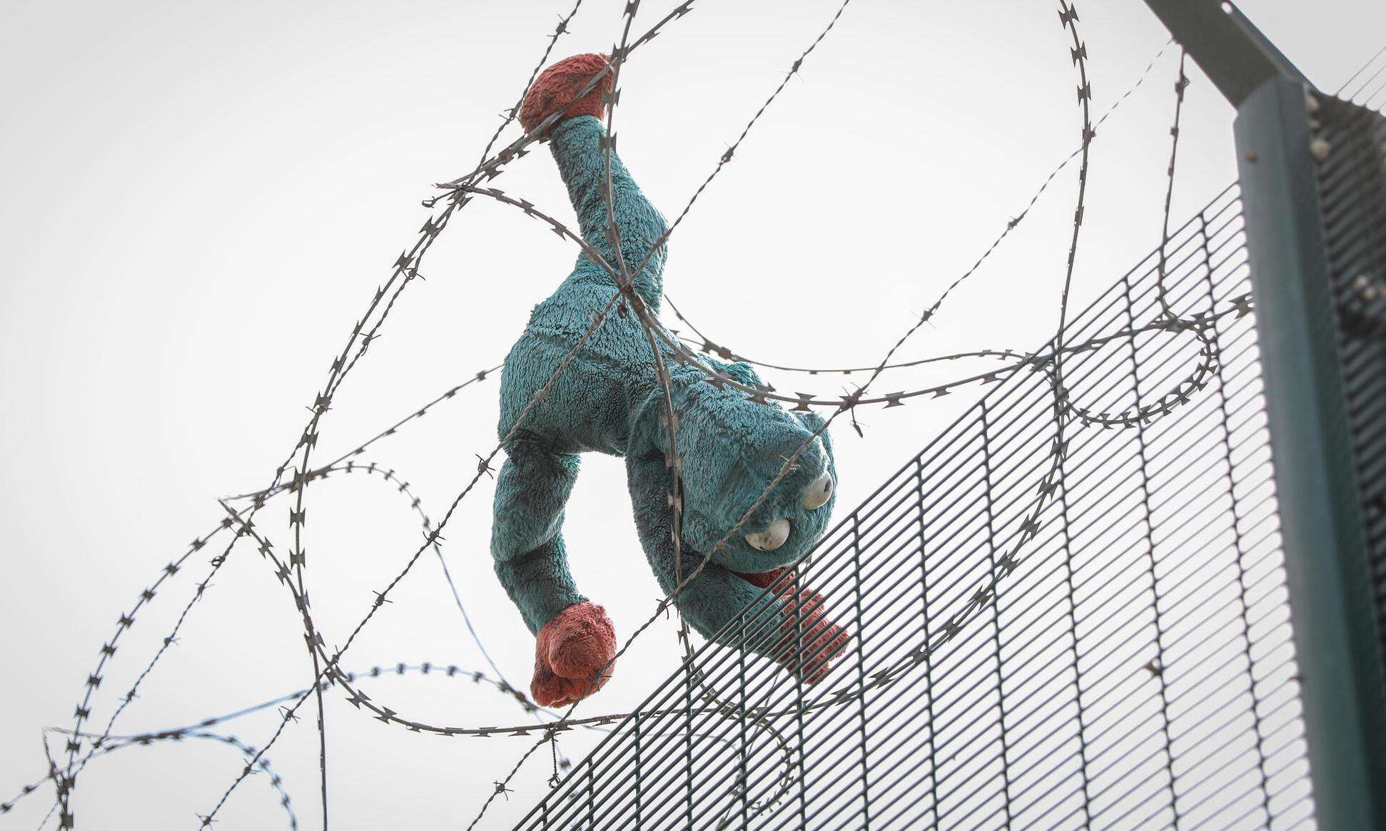
[[(553, 158), (559, 162), (559, 173), (568, 187), (568, 198), (578, 215), (584, 240), (596, 248), (613, 269), (620, 269), (615, 248), (607, 238), (606, 154), (602, 150), (606, 127), (592, 115), (579, 115), (553, 127), (552, 138)], [(651, 245), (664, 234), (667, 226), (614, 151), (611, 206), (621, 234), (625, 266), (635, 271), (650, 255)], [(661, 247), (654, 256), (649, 256), (650, 262), (644, 270), (635, 276), (636, 291), (656, 312), (660, 307), (665, 258), (667, 251)], [(585, 255), (579, 258), (579, 265), (582, 259)]]

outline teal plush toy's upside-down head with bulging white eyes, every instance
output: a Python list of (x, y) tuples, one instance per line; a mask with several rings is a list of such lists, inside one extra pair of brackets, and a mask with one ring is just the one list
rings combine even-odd
[[(733, 377), (748, 370), (729, 367)], [(686, 544), (742, 573), (768, 572), (808, 553), (827, 530), (837, 497), (832, 440), (826, 431), (812, 438), (822, 417), (753, 403), (705, 378), (679, 399)], [(760, 499), (800, 447), (789, 474)]]

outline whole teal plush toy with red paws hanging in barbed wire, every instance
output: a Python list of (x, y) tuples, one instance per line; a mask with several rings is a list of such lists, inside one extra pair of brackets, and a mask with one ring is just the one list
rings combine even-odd
[[(604, 234), (604, 159), (602, 96), (610, 75), (589, 94), (577, 93), (606, 68), (606, 57), (575, 55), (550, 66), (520, 109), (532, 130), (556, 111), (549, 127), (553, 158), (567, 184), (584, 238), (610, 263), (617, 262)], [(665, 231), (664, 217), (646, 201), (613, 154), (614, 212), (625, 262), (646, 260)], [(649, 258), (635, 276), (635, 291), (658, 312), (667, 251)], [(529, 324), (506, 357), (500, 381), (499, 434), (507, 436), (521, 411), (543, 388), (584, 337), (595, 310), (620, 289), (613, 277), (585, 255), (559, 289), (535, 306)], [(669, 357), (668, 355), (665, 356)], [(722, 373), (760, 384), (748, 364), (712, 361)], [(736, 526), (784, 460), (804, 445), (822, 420), (753, 403), (742, 392), (718, 388), (703, 373), (667, 360), (678, 453), (682, 458), (682, 573), (710, 562), (674, 597), (685, 619), (712, 637), (762, 590), (786, 564), (802, 557), (827, 529), (836, 496), (832, 442), (814, 439), (737, 533)], [(613, 313), (559, 373), (547, 393), (506, 442), (506, 463), (496, 482), (491, 553), (496, 575), (536, 636), (534, 699), (546, 706), (571, 704), (595, 692), (610, 677), (617, 641), (606, 611), (582, 596), (568, 572), (563, 544), (564, 503), (585, 452), (624, 456), (640, 544), (665, 593), (678, 580), (674, 564), (669, 439), (663, 424), (664, 391), (656, 378), (650, 345), (633, 314)], [(747, 615), (748, 623), (776, 615), (784, 633), (758, 648), (805, 680), (816, 680), (847, 641), (844, 630), (823, 618), (821, 598), (766, 594)], [(797, 633), (796, 633), (797, 630)], [(603, 669), (604, 668), (604, 669)], [(600, 677), (599, 677), (600, 673)]]

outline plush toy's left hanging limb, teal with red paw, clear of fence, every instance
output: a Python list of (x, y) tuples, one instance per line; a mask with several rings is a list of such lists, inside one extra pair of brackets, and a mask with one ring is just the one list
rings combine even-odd
[(560, 706), (596, 692), (611, 676), (615, 630), (606, 611), (578, 593), (563, 547), (563, 506), (578, 457), (532, 439), (510, 442), (506, 454), (491, 554), (500, 584), (536, 636), (529, 691), (539, 704)]

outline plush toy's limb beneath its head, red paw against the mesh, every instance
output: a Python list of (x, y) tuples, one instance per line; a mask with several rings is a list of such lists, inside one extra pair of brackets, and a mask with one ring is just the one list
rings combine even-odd
[[(714, 637), (729, 623), (719, 643), (742, 645), (778, 661), (814, 683), (827, 673), (829, 662), (847, 647), (847, 632), (823, 616), (822, 597), (811, 590), (794, 591), (790, 586), (779, 597), (764, 594), (769, 583), (755, 580), (707, 562), (703, 554), (683, 550), (681, 569), (674, 566), (674, 542), (669, 525), (674, 511), (668, 507), (668, 470), (660, 456), (626, 457), (626, 472), (635, 501), (635, 524), (640, 544), (660, 587), (674, 593), (679, 575), (683, 589), (675, 596), (683, 618), (703, 636)], [(690, 575), (697, 576), (689, 579)], [(751, 605), (754, 602), (754, 605)], [(748, 608), (744, 614), (742, 609)]]

